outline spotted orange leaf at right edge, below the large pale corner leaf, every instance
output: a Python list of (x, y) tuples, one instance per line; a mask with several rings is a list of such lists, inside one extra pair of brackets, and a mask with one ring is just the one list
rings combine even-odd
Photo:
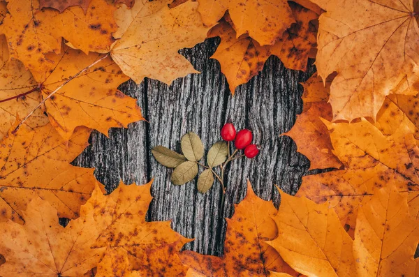
[(360, 203), (379, 188), (394, 184), (400, 192), (419, 190), (419, 149), (408, 127), (400, 126), (396, 133), (383, 135), (365, 119), (357, 123), (324, 122), (330, 130), (333, 153), (345, 170), (303, 177), (297, 195), (328, 202), (351, 235)]

